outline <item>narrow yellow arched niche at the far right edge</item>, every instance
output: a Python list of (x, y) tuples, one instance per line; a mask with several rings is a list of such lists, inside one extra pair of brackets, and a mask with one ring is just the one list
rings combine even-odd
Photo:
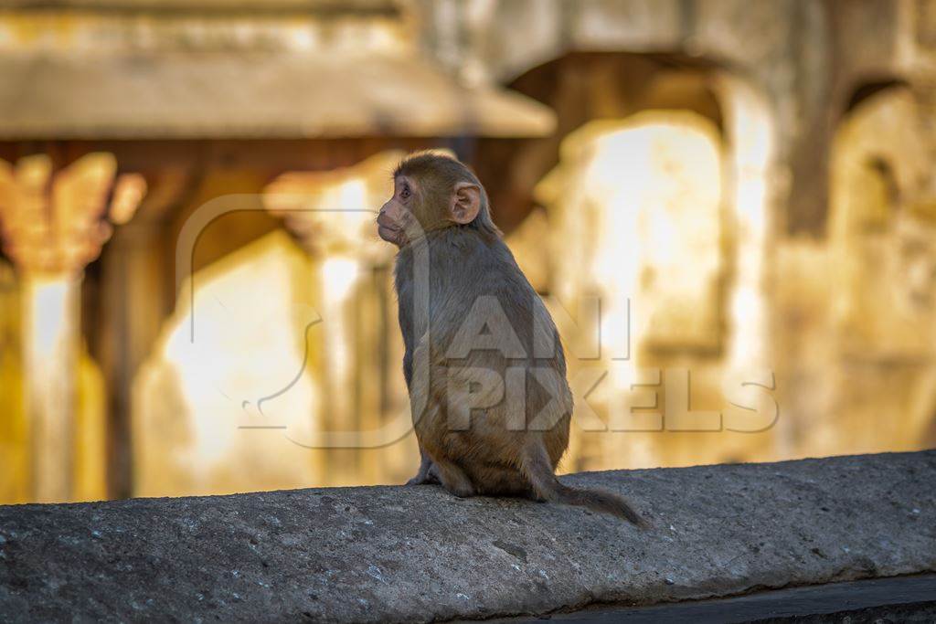
[(909, 450), (936, 414), (936, 210), (921, 111), (899, 82), (858, 89), (833, 143), (825, 427), (817, 452)]

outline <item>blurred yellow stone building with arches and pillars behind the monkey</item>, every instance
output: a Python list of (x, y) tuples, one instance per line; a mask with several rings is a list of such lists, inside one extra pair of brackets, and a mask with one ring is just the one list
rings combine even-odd
[(412, 476), (321, 440), (406, 414), (425, 148), (556, 316), (564, 472), (932, 446), (934, 112), (933, 0), (0, 2), (0, 502)]

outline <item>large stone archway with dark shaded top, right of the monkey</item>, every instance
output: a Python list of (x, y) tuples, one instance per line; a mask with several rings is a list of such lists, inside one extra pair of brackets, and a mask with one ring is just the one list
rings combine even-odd
[[(623, 365), (627, 370), (615, 388), (608, 391), (612, 384), (605, 383), (606, 396), (597, 386), (588, 395), (606, 406), (596, 410), (606, 424), (640, 407), (637, 403), (666, 413), (661, 397), (668, 395), (671, 407), (685, 401), (688, 408), (691, 402), (696, 420), (710, 416), (717, 428), (730, 430), (668, 431), (661, 424), (665, 418), (654, 421), (644, 410), (646, 417), (631, 418), (630, 426), (640, 422), (639, 428), (664, 431), (602, 432), (593, 443), (579, 440), (566, 470), (777, 457), (776, 431), (761, 432), (772, 428), (776, 418), (766, 272), (781, 193), (781, 179), (774, 173), (775, 124), (765, 96), (714, 65), (678, 55), (608, 53), (577, 59), (564, 78), (558, 71), (542, 82), (548, 88), (553, 82), (560, 85), (547, 100), (557, 109), (560, 136), (552, 144), (529, 142), (515, 157), (516, 167), (502, 169), (514, 176), (516, 198), (517, 189), (535, 177), (536, 167), (550, 159), (559, 163), (536, 187), (546, 215), (531, 212), (509, 242), (521, 267), (549, 268), (547, 277), (537, 270), (537, 287), (564, 298), (563, 306), (571, 311), (567, 316), (576, 315), (577, 297), (599, 294), (613, 299), (603, 301), (604, 324), (604, 314), (623, 310), (633, 297), (636, 359)], [(637, 72), (637, 78), (628, 72)], [(513, 86), (525, 92), (523, 84)], [(581, 123), (589, 118), (602, 121)], [(638, 147), (641, 136), (655, 137), (659, 149), (648, 147), (653, 141)], [(562, 148), (556, 146), (559, 141)], [(605, 166), (611, 167), (609, 175), (595, 178)], [(615, 166), (622, 168), (614, 171)], [(642, 173), (634, 175), (637, 171)], [(633, 199), (641, 194), (642, 199)], [(692, 199), (685, 198), (692, 196), (704, 206), (692, 206)], [(673, 210), (656, 210), (666, 206)], [(638, 217), (641, 212), (644, 216)], [(662, 245), (645, 245), (641, 251), (653, 239), (654, 222), (670, 228), (669, 240), (679, 253), (667, 259)], [(641, 227), (650, 230), (640, 233)], [(533, 242), (544, 237), (553, 244), (548, 251)], [(538, 259), (531, 261), (530, 255)], [(583, 282), (590, 271), (601, 272), (594, 261), (604, 255), (607, 262), (598, 265), (607, 265), (607, 274), (591, 286), (588, 279)], [(648, 285), (652, 282), (655, 286)], [(620, 292), (596, 293), (601, 283)], [(579, 331), (581, 322), (579, 316), (573, 323)], [(609, 336), (606, 332), (602, 338)], [(638, 372), (641, 368), (655, 371)], [(683, 378), (691, 392), (680, 389)], [(632, 384), (653, 387), (648, 394), (647, 388), (631, 391)], [(666, 414), (670, 425), (679, 420), (674, 414)]]

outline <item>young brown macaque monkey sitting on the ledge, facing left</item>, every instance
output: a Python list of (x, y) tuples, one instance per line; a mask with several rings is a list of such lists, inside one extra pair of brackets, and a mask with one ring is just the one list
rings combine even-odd
[(403, 375), (421, 455), (409, 484), (580, 505), (646, 526), (621, 497), (555, 476), (572, 415), (563, 347), (481, 182), (458, 160), (421, 152), (393, 183), (377, 231), (400, 248)]

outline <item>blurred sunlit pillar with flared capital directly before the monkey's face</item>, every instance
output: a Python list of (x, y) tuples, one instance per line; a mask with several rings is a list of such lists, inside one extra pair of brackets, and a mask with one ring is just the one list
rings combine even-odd
[[(327, 430), (379, 428), (388, 404), (395, 403), (385, 396), (392, 392), (385, 382), (388, 369), (399, 374), (400, 359), (388, 367), (383, 356), (388, 334), (395, 339), (399, 330), (385, 328), (392, 297), (382, 297), (393, 249), (377, 238), (373, 220), (392, 194), (390, 173), (401, 158), (402, 152), (381, 152), (354, 167), (285, 173), (264, 190), (267, 208), (284, 217), (314, 258), (316, 307), (323, 323), (312, 374), (323, 397), (319, 422)], [(397, 387), (402, 374), (399, 381)], [(374, 483), (396, 472), (381, 465), (395, 450), (382, 449), (379, 459), (367, 449), (326, 453), (329, 485)]]

